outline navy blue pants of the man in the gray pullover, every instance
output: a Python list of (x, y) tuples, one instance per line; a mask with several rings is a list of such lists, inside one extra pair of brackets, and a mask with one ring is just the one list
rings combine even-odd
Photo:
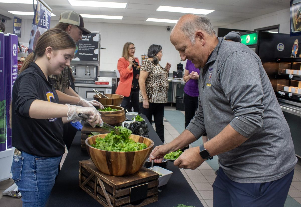
[(287, 198), (294, 170), (283, 178), (267, 183), (237, 183), (231, 181), (219, 168), (213, 183), (214, 207), (266, 206), (283, 207)]

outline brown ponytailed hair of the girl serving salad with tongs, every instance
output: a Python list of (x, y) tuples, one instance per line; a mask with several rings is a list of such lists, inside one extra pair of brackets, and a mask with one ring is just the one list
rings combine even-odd
[(45, 54), (47, 47), (52, 47), (53, 50), (64, 50), (68, 48), (76, 48), (76, 44), (67, 32), (59, 28), (47, 30), (39, 37), (36, 48), (34, 48), (34, 52), (27, 56), (19, 73), (28, 68), (29, 64), (34, 62), (37, 57), (42, 57)]

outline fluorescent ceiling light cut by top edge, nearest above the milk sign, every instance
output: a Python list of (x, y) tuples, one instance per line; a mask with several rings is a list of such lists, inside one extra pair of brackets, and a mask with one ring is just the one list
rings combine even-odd
[(69, 0), (72, 6), (126, 8), (126, 3)]

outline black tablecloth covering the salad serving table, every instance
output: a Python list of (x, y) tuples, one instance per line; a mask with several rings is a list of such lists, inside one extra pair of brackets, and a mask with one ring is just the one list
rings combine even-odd
[[(145, 115), (141, 116), (146, 119), (146, 123), (150, 129), (149, 138), (154, 141), (154, 146), (162, 145), (161, 140), (151, 127)], [(130, 120), (132, 116), (128, 118)], [(81, 150), (80, 136), (80, 131), (78, 131), (51, 191), (46, 204), (48, 207), (102, 206), (79, 187), (79, 161), (90, 159), (88, 153)], [(162, 192), (158, 193), (158, 201), (147, 206), (172, 207), (178, 204), (195, 207), (203, 206), (184, 178), (182, 172), (180, 172), (180, 169), (174, 166), (172, 162), (168, 162), (168, 170), (173, 173), (168, 183), (159, 187), (159, 190), (162, 190)]]

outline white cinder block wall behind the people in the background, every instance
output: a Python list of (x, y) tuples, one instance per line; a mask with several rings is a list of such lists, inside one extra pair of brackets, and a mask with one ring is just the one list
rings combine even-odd
[[(32, 21), (30, 19), (22, 19), (21, 38), (19, 42), (28, 43)], [(57, 20), (51, 21), (51, 27), (58, 23)], [(256, 28), (272, 26), (280, 24), (281, 33), (290, 33), (290, 9), (284, 9), (277, 12), (261, 15), (248, 20), (222, 26), (231, 29), (254, 30)], [(5, 24), (6, 33), (12, 33), (13, 23), (8, 20)], [(160, 44), (164, 52), (160, 64), (164, 67), (166, 62), (171, 63), (171, 71), (176, 71), (176, 66), (180, 62), (178, 51), (175, 50), (169, 41), (170, 32), (166, 32), (166, 26), (150, 26), (136, 24), (120, 24), (120, 23), (101, 23), (88, 22), (85, 18), (85, 27), (91, 31), (99, 31), (101, 33), (101, 50), (100, 70), (116, 70), (117, 61), (121, 57), (124, 43), (131, 41), (137, 47), (135, 56), (139, 57), (147, 53), (151, 44)], [(218, 28), (214, 28), (217, 34)], [(182, 62), (185, 68), (186, 61)]]

